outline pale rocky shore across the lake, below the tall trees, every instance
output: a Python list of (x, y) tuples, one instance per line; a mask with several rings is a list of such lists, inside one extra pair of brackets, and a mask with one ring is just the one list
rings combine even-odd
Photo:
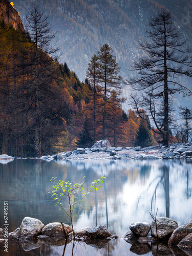
[(169, 144), (168, 147), (155, 145), (141, 148), (112, 147), (108, 140), (97, 141), (91, 148), (77, 148), (52, 156), (42, 156), (44, 160), (62, 161), (67, 159), (191, 159), (191, 143)]

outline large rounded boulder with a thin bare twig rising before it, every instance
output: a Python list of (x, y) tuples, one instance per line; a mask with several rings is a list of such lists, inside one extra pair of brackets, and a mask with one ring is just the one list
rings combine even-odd
[(157, 218), (157, 232), (156, 232), (156, 224), (155, 221), (152, 221), (151, 224), (151, 235), (154, 238), (157, 238), (161, 240), (168, 239), (173, 231), (178, 227), (178, 223), (174, 221), (173, 219), (166, 218), (166, 217), (159, 217)]

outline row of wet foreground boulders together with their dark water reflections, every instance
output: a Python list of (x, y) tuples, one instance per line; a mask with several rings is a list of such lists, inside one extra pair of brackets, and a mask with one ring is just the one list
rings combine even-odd
[[(42, 244), (67, 245), (74, 240), (72, 228), (68, 224), (62, 224), (63, 226), (61, 224), (53, 222), (45, 226), (38, 219), (25, 217), (20, 227), (9, 234), (0, 228), (0, 243), (5, 240), (17, 241), (22, 243), (25, 251), (38, 248)], [(192, 220), (182, 226), (178, 226), (175, 220), (165, 217), (154, 219), (151, 224), (134, 222), (122, 238), (112, 235), (105, 226), (101, 225), (75, 230), (76, 241), (96, 248), (103, 248), (110, 240), (116, 239), (130, 243), (132, 245), (130, 251), (138, 255), (148, 252), (152, 252), (153, 255), (192, 255)]]

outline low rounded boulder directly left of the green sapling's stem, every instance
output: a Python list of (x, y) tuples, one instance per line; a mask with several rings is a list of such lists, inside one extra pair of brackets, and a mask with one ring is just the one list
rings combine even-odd
[[(66, 230), (66, 233), (69, 234), (72, 232), (72, 227), (68, 224), (63, 224)], [(42, 234), (48, 237), (65, 237), (65, 233), (63, 232), (63, 227), (59, 222), (52, 222), (47, 224), (42, 229)]]

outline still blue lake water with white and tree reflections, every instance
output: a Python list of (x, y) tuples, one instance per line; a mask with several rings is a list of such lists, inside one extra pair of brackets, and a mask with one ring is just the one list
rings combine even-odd
[[(0, 163), (0, 227), (4, 227), (4, 201), (8, 201), (9, 232), (20, 226), (22, 216), (32, 217), (45, 225), (63, 222), (70, 225), (62, 210), (55, 206), (49, 192), (52, 177), (90, 184), (99, 176), (106, 177), (97, 191), (90, 193), (74, 213), (75, 229), (106, 225), (120, 238), (129, 231), (132, 222), (152, 222), (151, 214), (169, 217), (179, 225), (192, 219), (192, 161), (191, 160), (73, 160), (44, 161), (17, 159)], [(20, 244), (20, 245), (19, 245)], [(62, 255), (64, 244), (36, 244), (32, 250), (22, 243), (10, 243), (1, 255)], [(148, 245), (150, 246), (151, 245)], [(14, 251), (14, 253), (13, 253)], [(65, 255), (71, 255), (71, 244)], [(75, 255), (135, 255), (136, 249), (124, 240), (110, 241), (103, 248), (76, 243)], [(147, 252), (147, 253), (146, 253)], [(153, 255), (146, 250), (145, 255)], [(22, 254), (21, 254), (22, 253)], [(144, 253), (143, 253), (144, 254)]]

